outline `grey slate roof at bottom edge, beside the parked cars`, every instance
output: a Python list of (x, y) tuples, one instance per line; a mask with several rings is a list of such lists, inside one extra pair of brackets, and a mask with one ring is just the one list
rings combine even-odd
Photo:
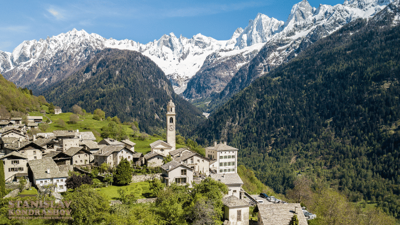
[(307, 225), (307, 219), (301, 211), (299, 203), (285, 204), (257, 204), (254, 212), (258, 212), (264, 225), (287, 225), (294, 214), (294, 207), (297, 206), (298, 224)]

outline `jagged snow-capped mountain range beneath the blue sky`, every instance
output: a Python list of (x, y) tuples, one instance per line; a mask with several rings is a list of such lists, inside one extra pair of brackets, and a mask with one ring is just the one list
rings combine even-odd
[(258, 57), (254, 70), (258, 75), (294, 57), (343, 24), (374, 15), (389, 2), (345, 0), (343, 4), (320, 4), (314, 8), (302, 0), (293, 5), (286, 21), (258, 13), (247, 27), (237, 28), (229, 40), (216, 40), (200, 33), (191, 38), (170, 33), (142, 44), (73, 29), (46, 39), (23, 41), (12, 52), (0, 51), (0, 73), (19, 86), (42, 89), (67, 77), (106, 47), (130, 49), (150, 57), (177, 93), (184, 91), (186, 98), (208, 97), (212, 92), (220, 92), (242, 65), (259, 55), (261, 48), (264, 53)]

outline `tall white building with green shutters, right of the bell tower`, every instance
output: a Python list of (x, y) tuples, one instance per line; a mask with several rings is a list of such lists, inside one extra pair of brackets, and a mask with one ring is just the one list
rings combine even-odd
[(226, 145), (226, 142), (205, 148), (205, 155), (210, 159), (216, 159), (212, 163), (216, 173), (235, 173), (237, 172), (237, 148)]

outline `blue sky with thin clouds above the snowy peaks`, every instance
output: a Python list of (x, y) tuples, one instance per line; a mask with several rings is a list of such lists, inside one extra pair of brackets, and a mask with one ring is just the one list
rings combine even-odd
[[(286, 20), (300, 0), (13, 0), (1, 2), (0, 50), (12, 51), (23, 40), (46, 38), (73, 28), (105, 38), (147, 43), (164, 33), (197, 33), (229, 39), (258, 12)], [(309, 0), (335, 5), (344, 0)]]

